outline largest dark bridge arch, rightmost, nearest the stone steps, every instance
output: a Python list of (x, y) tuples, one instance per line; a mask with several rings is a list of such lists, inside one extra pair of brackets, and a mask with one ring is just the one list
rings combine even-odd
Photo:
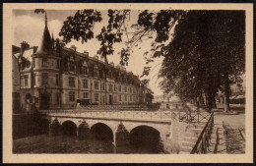
[(163, 150), (160, 131), (147, 125), (132, 129), (129, 140), (132, 148), (138, 153), (149, 151), (155, 153)]

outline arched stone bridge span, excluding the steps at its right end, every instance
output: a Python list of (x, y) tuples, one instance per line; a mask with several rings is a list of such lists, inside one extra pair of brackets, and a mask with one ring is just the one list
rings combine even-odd
[[(164, 148), (171, 135), (170, 111), (88, 111), (88, 110), (50, 110), (40, 111), (45, 115), (51, 135), (74, 135), (87, 138), (106, 138), (116, 147), (131, 141), (157, 143)], [(58, 127), (59, 126), (59, 127)], [(138, 140), (141, 139), (141, 140)]]

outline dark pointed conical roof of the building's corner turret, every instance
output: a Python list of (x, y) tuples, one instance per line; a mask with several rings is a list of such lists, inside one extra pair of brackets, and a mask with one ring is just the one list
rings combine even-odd
[(37, 55), (38, 54), (51, 54), (51, 52), (52, 52), (52, 40), (50, 37), (49, 29), (47, 27), (47, 15), (45, 12), (45, 27), (44, 27), (43, 34), (42, 34), (41, 43), (40, 43), (38, 50), (34, 54), (37, 54)]

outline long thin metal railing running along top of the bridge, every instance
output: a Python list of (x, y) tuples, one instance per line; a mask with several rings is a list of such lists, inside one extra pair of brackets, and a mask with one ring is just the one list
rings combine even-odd
[(190, 109), (160, 109), (148, 108), (119, 108), (111, 110), (98, 109), (69, 109), (69, 110), (41, 110), (40, 113), (50, 116), (84, 117), (84, 118), (118, 118), (118, 119), (149, 119), (171, 120), (190, 124), (206, 123), (210, 114), (205, 111), (191, 111)]

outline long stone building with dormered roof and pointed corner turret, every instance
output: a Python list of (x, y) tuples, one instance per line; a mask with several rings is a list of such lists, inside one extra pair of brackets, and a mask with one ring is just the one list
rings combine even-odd
[[(29, 110), (75, 107), (86, 104), (139, 104), (140, 80), (113, 63), (105, 64), (75, 46), (60, 46), (50, 36), (45, 17), (36, 52), (20, 57), (21, 102)], [(34, 104), (33, 104), (34, 103)]]

